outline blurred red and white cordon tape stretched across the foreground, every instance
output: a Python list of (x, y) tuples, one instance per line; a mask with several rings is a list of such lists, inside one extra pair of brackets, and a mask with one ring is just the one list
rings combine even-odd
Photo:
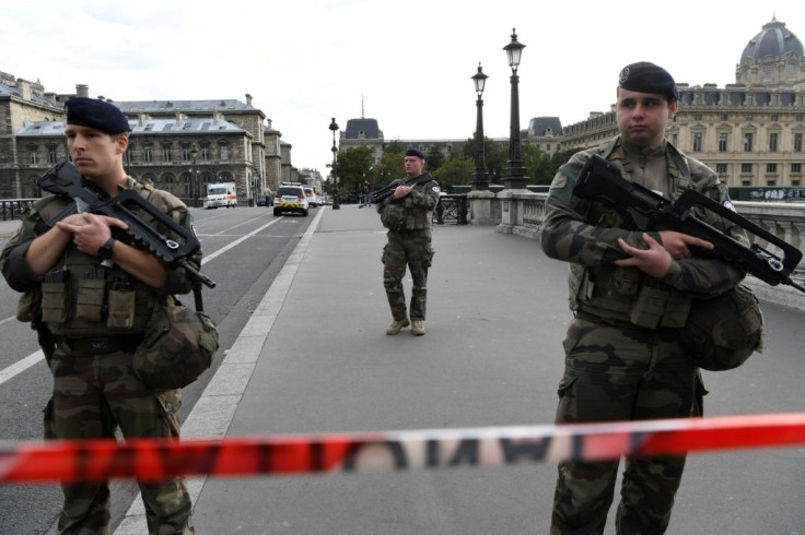
[(48, 441), (0, 444), (0, 483), (378, 473), (796, 444), (805, 444), (805, 413), (222, 440)]

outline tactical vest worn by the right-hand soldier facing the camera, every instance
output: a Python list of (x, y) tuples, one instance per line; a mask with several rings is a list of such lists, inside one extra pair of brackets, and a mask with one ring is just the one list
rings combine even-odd
[[(618, 163), (628, 174), (629, 164), (622, 162), (626, 154), (620, 145), (609, 145), (603, 155)], [(687, 160), (670, 144), (666, 152), (666, 165), (672, 198), (676, 199), (690, 186), (690, 178)], [(591, 204), (585, 222), (596, 226), (634, 229), (629, 228), (622, 212), (600, 203)], [(646, 276), (637, 268), (607, 263), (591, 268), (571, 264), (570, 269), (573, 310), (648, 329), (679, 329), (686, 324), (692, 302), (690, 297)]]

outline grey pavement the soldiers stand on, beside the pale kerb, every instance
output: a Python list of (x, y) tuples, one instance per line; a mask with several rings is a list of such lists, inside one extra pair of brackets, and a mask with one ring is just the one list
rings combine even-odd
[[(183, 437), (552, 421), (571, 318), (567, 265), (492, 227), (438, 226), (428, 333), (387, 336), (376, 213), (342, 205), (315, 217), (225, 348)], [(805, 312), (762, 308), (763, 354), (705, 374), (708, 415), (804, 409)], [(555, 478), (556, 466), (540, 464), (188, 484), (197, 533), (541, 534)], [(690, 455), (667, 533), (803, 535), (802, 496), (805, 447)], [(143, 514), (138, 499), (115, 533), (144, 533)]]

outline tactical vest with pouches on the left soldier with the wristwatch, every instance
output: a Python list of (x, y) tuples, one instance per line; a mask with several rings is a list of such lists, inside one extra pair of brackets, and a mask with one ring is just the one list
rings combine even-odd
[[(170, 195), (129, 179), (128, 186), (166, 213)], [(45, 198), (34, 203), (43, 222), (65, 210), (71, 201)], [(153, 218), (132, 210), (149, 224)], [(27, 294), (27, 293), (26, 293)], [(105, 268), (101, 259), (79, 252), (70, 242), (56, 265), (45, 274), (39, 295), (25, 297), (42, 302), (42, 320), (57, 336), (139, 334), (160, 302), (159, 294), (117, 265)], [(21, 300), (22, 301), (22, 300)], [(21, 307), (23, 302), (21, 302)], [(18, 312), (19, 316), (19, 312)]]

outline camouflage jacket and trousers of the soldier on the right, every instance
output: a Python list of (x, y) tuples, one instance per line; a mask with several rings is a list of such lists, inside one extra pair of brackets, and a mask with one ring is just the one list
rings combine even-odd
[[(692, 298), (719, 295), (735, 286), (744, 273), (715, 259), (675, 260), (662, 280), (615, 265), (615, 260), (627, 258), (617, 238), (633, 247), (646, 246), (643, 233), (621, 212), (572, 195), (592, 154), (618, 164), (625, 179), (666, 198), (675, 200), (686, 188), (695, 188), (720, 203), (730, 202), (718, 176), (667, 140), (658, 148), (641, 150), (617, 136), (575, 154), (559, 169), (547, 200), (541, 247), (549, 257), (570, 262), (574, 319), (563, 342), (565, 366), (556, 421), (701, 415), (705, 392), (698, 369), (678, 341), (678, 329), (685, 325)], [(731, 223), (698, 215), (746, 240)], [(657, 233), (649, 234), (661, 241)], [(603, 533), (618, 464), (559, 465), (552, 534)], [(618, 533), (665, 532), (684, 466), (684, 456), (626, 460)]]

